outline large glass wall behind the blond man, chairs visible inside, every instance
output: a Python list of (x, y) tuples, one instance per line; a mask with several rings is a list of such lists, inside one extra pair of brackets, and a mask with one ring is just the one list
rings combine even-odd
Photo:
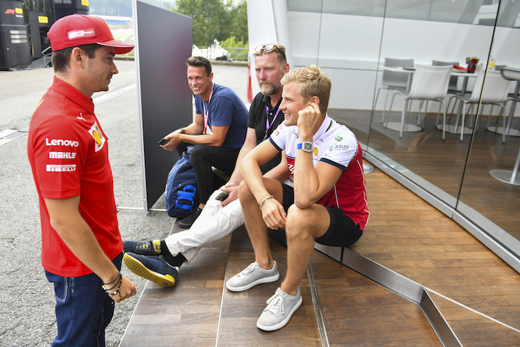
[[(508, 176), (514, 169), (520, 108), (515, 110), (514, 102), (505, 110), (485, 103), (501, 105), (507, 94), (518, 93), (516, 81), (506, 81), (495, 71), (504, 65), (520, 68), (520, 1), (287, 4), (293, 65), (315, 64), (329, 72), (331, 116), (356, 133), (369, 155), (440, 201), (449, 217), (469, 221), (520, 258), (520, 186), (496, 178), (496, 172)], [(466, 70), (469, 58), (478, 58), (474, 73)], [(399, 68), (406, 64), (407, 69)], [(449, 106), (446, 125), (440, 103), (421, 108), (415, 101), (402, 112), (404, 96), (416, 86), (418, 65), (432, 64), (460, 67), (452, 69), (451, 94), (444, 98)], [(458, 97), (449, 98), (455, 94)], [(476, 103), (460, 101), (471, 95)]]

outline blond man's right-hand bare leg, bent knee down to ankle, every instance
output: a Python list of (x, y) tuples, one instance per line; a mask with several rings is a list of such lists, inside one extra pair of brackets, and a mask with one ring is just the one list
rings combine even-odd
[(330, 226), (329, 212), (322, 205), (300, 209), (292, 205), (286, 223), (287, 274), (280, 288), (296, 295), (300, 281), (314, 251), (314, 239), (324, 235)]

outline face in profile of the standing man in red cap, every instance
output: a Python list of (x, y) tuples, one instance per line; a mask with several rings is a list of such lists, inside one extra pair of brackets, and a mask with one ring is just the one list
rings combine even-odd
[[(86, 54), (85, 57), (87, 57)], [(93, 58), (87, 58), (84, 83), (93, 93), (106, 92), (112, 75), (118, 72), (114, 64), (114, 48), (101, 46), (94, 51)]]

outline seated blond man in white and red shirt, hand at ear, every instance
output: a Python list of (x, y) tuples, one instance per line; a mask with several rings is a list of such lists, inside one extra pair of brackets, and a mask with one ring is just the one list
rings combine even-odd
[[(239, 198), (254, 262), (230, 278), (230, 291), (279, 279), (268, 229), (285, 228), (287, 273), (257, 321), (262, 330), (284, 327), (302, 304), (300, 280), (314, 242), (350, 246), (363, 234), (367, 210), (363, 153), (354, 133), (327, 115), (331, 81), (318, 67), (282, 78), (284, 123), (241, 162)], [(262, 176), (259, 167), (285, 151), (294, 187)]]

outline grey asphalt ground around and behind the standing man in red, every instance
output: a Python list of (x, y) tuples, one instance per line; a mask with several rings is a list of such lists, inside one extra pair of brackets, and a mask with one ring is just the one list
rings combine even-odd
[[(119, 74), (112, 78), (110, 91), (93, 98), (110, 146), (114, 195), (121, 207), (119, 228), (123, 239), (163, 238), (175, 219), (166, 212), (127, 209), (143, 205), (137, 90), (131, 87), (136, 83), (135, 62), (116, 60), (116, 66)], [(245, 66), (214, 65), (214, 74), (216, 83), (232, 87), (249, 108)], [(52, 68), (0, 71), (0, 346), (50, 346), (57, 332), (53, 287), (40, 262), (40, 212), (25, 133), (52, 78)], [(153, 207), (164, 208), (164, 198)], [(124, 264), (122, 271), (135, 283), (137, 295), (116, 304), (107, 346), (119, 345), (147, 282)]]

